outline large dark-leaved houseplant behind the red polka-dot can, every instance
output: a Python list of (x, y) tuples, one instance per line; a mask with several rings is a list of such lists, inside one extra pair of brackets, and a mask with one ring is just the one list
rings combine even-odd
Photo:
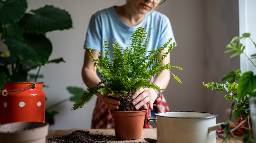
[[(48, 5), (26, 13), (27, 7), (26, 0), (0, 0), (0, 34), (8, 48), (0, 51), (0, 89), (2, 81), (37, 81), (43, 77), (41, 66), (65, 62), (63, 58), (49, 60), (53, 47), (46, 33), (71, 28), (70, 14)], [(36, 74), (29, 74), (36, 68)]]

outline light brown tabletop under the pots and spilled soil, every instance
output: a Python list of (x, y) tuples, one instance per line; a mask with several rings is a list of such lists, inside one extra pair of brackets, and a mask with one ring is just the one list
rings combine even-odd
[[(114, 129), (68, 129), (68, 130), (49, 130), (48, 136), (67, 135), (76, 130), (90, 131), (91, 133), (95, 133), (95, 134), (102, 133), (104, 135), (115, 135)], [(146, 141), (147, 138), (156, 139), (156, 136), (157, 136), (156, 133), (157, 133), (156, 129), (143, 129), (141, 139), (131, 140), (129, 141), (129, 143), (148, 143)], [(113, 141), (113, 143), (127, 143), (127, 141)], [(216, 139), (216, 143), (225, 143), (225, 141), (223, 138), (219, 137), (218, 139)], [(237, 140), (235, 138), (229, 138), (228, 143), (242, 143), (242, 141)]]

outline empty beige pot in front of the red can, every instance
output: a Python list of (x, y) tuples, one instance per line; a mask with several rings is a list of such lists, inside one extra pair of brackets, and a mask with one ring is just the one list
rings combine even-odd
[(49, 124), (14, 122), (0, 125), (0, 143), (45, 143)]

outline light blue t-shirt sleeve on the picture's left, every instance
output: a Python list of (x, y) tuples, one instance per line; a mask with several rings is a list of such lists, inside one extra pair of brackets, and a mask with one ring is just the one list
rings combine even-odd
[(102, 48), (102, 26), (100, 20), (97, 18), (96, 14), (91, 17), (87, 34), (86, 40), (84, 43), (84, 48), (87, 47), (92, 48), (93, 50), (101, 51)]

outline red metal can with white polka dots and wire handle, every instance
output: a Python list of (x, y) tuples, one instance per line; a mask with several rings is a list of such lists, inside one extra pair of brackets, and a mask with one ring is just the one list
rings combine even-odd
[(3, 82), (0, 124), (45, 121), (43, 82)]

